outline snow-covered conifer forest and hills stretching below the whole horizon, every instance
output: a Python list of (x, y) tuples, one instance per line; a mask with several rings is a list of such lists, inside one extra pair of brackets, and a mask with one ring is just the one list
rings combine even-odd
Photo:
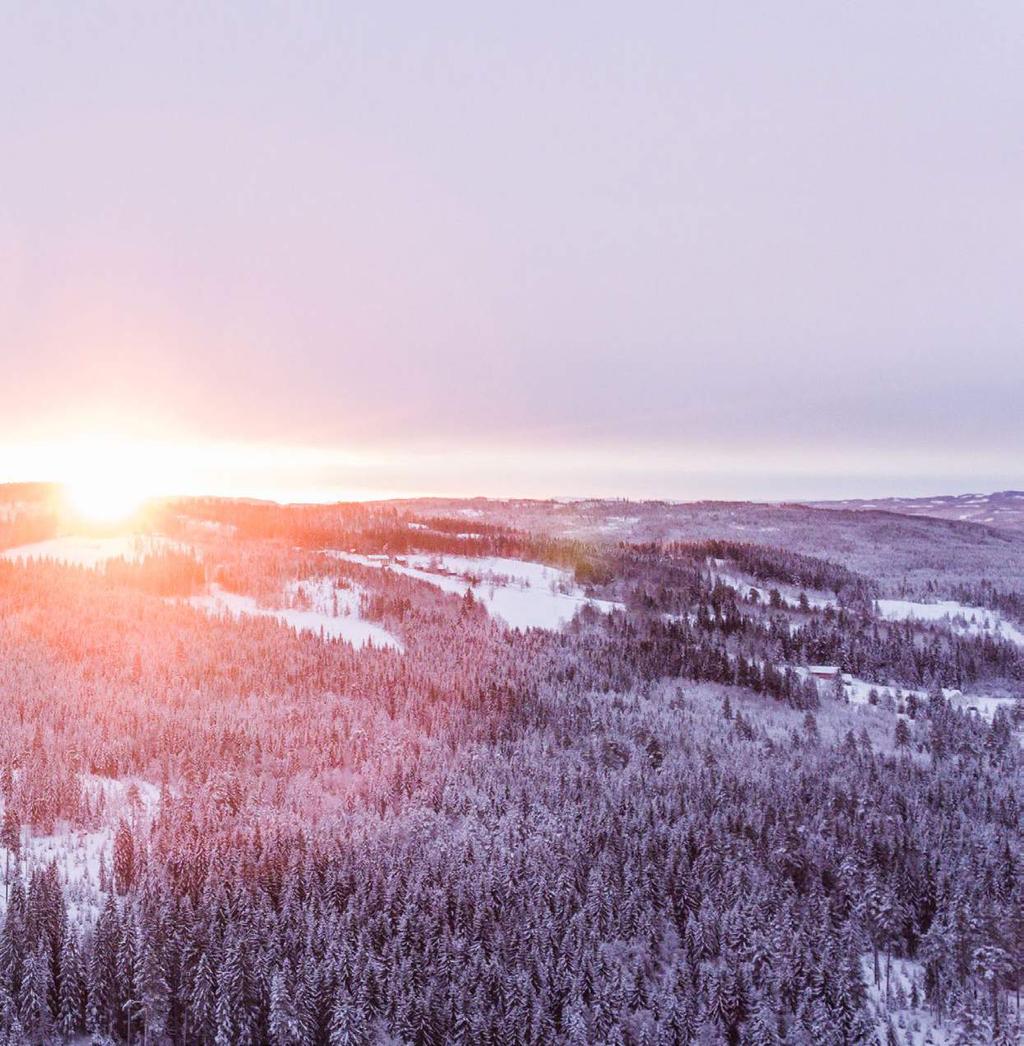
[(1024, 1041), (1024, 538), (883, 515), (13, 492), (2, 1041)]

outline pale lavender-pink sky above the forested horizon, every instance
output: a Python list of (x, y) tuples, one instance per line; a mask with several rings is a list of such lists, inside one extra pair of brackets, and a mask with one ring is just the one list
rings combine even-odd
[(0, 22), (0, 480), (1024, 487), (1018, 0)]

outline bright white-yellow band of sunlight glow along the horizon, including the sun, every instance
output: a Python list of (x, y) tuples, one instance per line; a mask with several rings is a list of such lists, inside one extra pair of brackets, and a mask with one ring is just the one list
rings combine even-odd
[[(1000, 490), (1012, 475), (994, 454), (924, 459), (817, 446), (729, 447), (316, 447), (71, 434), (0, 447), (0, 482), (66, 488), (83, 520), (123, 520), (151, 498), (256, 498), (329, 503), (405, 498), (627, 498), (804, 501), (887, 494)], [(950, 488), (948, 476), (962, 477)]]

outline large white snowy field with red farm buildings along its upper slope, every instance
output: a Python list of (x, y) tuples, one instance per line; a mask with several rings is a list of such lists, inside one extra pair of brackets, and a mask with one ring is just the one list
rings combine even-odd
[(543, 563), (498, 556), (414, 554), (387, 559), (328, 550), (328, 555), (396, 573), (464, 595), (470, 589), (487, 612), (514, 629), (560, 629), (586, 606), (610, 613), (619, 605), (590, 599), (572, 574)]

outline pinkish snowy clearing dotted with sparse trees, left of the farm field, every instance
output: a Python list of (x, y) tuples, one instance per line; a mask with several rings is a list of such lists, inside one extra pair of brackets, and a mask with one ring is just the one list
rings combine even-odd
[(260, 607), (252, 596), (211, 585), (208, 593), (191, 596), (186, 602), (210, 614), (273, 617), (297, 632), (312, 632), (325, 639), (344, 639), (354, 646), (372, 643), (379, 647), (403, 649), (399, 639), (386, 629), (360, 617), (356, 589), (336, 588), (328, 578), (292, 582), (288, 597), (290, 607)]

